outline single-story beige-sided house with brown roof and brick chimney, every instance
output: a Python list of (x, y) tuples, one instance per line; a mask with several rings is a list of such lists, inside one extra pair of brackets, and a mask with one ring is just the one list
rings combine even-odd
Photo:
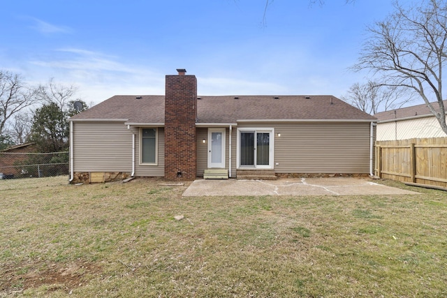
[(71, 181), (371, 174), (375, 117), (335, 96), (197, 96), (166, 76), (165, 96), (113, 96), (70, 119)]

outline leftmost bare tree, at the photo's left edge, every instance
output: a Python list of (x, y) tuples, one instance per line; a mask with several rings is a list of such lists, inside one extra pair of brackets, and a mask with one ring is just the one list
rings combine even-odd
[(36, 103), (34, 94), (20, 75), (0, 70), (0, 135), (13, 115)]

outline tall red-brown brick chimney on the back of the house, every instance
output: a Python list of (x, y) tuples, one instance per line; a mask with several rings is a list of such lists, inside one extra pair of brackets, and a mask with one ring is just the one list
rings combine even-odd
[(177, 69), (166, 75), (165, 178), (193, 180), (197, 172), (197, 79)]

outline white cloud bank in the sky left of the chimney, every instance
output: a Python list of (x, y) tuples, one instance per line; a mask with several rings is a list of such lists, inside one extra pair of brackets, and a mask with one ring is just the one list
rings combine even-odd
[(61, 84), (79, 87), (78, 96), (87, 103), (99, 103), (117, 94), (164, 94), (164, 74), (145, 66), (117, 61), (119, 57), (89, 50), (64, 48), (47, 59), (29, 61), (36, 73)]

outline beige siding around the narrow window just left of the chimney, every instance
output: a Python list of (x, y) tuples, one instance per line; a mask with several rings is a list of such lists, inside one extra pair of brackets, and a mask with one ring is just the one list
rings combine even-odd
[(165, 133), (164, 128), (158, 130), (157, 165), (140, 165), (140, 129), (135, 128), (135, 176), (136, 177), (164, 177), (165, 175)]

